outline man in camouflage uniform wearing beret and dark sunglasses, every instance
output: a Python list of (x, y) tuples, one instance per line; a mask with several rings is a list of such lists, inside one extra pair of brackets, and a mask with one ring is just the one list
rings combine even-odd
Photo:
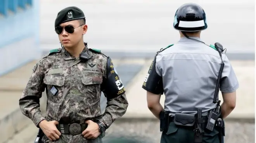
[[(125, 89), (110, 57), (83, 42), (85, 16), (77, 7), (61, 10), (55, 31), (62, 48), (40, 59), (19, 100), (24, 115), (44, 133), (43, 143), (101, 142), (105, 130), (128, 107)], [(47, 94), (46, 117), (39, 99)], [(107, 98), (100, 111), (101, 91)]]

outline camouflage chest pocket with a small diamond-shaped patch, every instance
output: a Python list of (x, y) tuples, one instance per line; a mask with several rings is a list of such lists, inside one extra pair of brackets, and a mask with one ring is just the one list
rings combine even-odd
[[(58, 103), (63, 96), (65, 77), (46, 75), (43, 79), (43, 83), (47, 85), (47, 98), (54, 103)], [(57, 91), (51, 91), (51, 89), (54, 87), (57, 89)]]

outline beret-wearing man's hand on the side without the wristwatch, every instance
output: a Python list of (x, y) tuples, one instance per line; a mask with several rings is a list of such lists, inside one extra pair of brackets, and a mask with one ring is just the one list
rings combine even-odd
[(56, 125), (59, 124), (58, 121), (46, 121), (43, 120), (39, 123), (40, 128), (43, 133), (47, 136), (50, 141), (55, 141), (60, 138), (61, 132), (57, 129)]

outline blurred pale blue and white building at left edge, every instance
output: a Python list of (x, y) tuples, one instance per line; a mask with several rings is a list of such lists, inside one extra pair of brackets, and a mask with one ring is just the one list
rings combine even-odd
[(0, 76), (40, 54), (39, 0), (0, 0)]

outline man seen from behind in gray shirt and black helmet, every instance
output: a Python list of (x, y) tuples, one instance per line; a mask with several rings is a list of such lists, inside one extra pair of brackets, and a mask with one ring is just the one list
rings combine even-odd
[(179, 7), (173, 26), (180, 40), (157, 52), (142, 86), (148, 108), (160, 119), (161, 143), (223, 142), (223, 118), (235, 108), (239, 87), (235, 72), (220, 44), (209, 46), (200, 40), (208, 25), (199, 5)]

